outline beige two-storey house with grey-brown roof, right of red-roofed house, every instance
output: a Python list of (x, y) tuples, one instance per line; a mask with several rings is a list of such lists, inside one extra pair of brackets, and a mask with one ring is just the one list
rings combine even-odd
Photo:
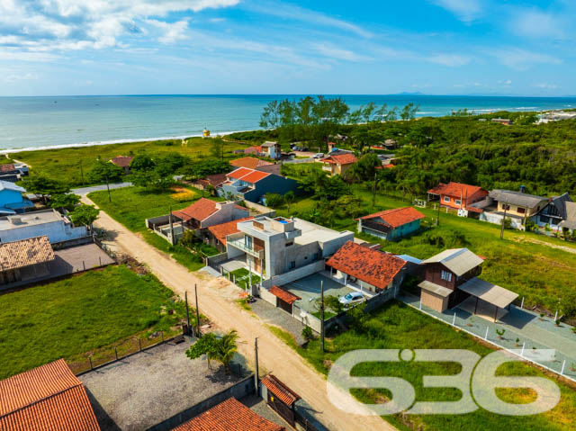
[(500, 224), (506, 214), (506, 218), (511, 221), (512, 228), (522, 229), (525, 221), (536, 216), (549, 201), (546, 197), (534, 194), (510, 190), (491, 190), (483, 205), (480, 220)]

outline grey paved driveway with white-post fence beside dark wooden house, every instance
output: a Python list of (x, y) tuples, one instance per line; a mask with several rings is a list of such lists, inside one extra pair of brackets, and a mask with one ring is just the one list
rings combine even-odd
[[(556, 327), (554, 320), (540, 319), (536, 313), (514, 306), (506, 316), (494, 323), (491, 320), (473, 316), (470, 312), (458, 307), (444, 312), (431, 310), (424, 305), (420, 309), (419, 298), (408, 292), (401, 292), (398, 300), (500, 348), (520, 351), (520, 353), (524, 350), (523, 356), (528, 361), (542, 365), (554, 373), (562, 373), (564, 377), (576, 381), (576, 371), (571, 370), (572, 365), (576, 368), (576, 334), (572, 332), (572, 327), (569, 325), (562, 323), (560, 327)], [(505, 329), (502, 339), (499, 338), (496, 329)], [(527, 353), (534, 348), (555, 350), (554, 361), (547, 360), (549, 358), (544, 356), (542, 359), (535, 358), (534, 355), (530, 355), (528, 359)]]

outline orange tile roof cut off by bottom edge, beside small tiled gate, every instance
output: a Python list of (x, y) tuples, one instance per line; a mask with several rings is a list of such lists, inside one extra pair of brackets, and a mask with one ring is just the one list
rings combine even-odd
[(285, 428), (229, 398), (173, 431), (285, 431)]

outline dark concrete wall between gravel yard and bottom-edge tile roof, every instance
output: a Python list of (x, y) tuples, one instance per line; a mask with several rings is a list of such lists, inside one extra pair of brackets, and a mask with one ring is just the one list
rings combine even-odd
[[(184, 424), (184, 422), (192, 418), (195, 418), (204, 411), (220, 404), (220, 402), (228, 400), (230, 397), (234, 397), (238, 400), (251, 393), (254, 393), (255, 391), (256, 387), (254, 384), (254, 374), (251, 374), (245, 379), (242, 379), (240, 382), (236, 383), (234, 386), (231, 386), (224, 391), (212, 395), (210, 398), (193, 405), (189, 409), (185, 409), (172, 418), (168, 418), (165, 421), (160, 422), (154, 427), (149, 427), (148, 431), (168, 431), (178, 427), (181, 424)], [(169, 400), (162, 400), (161, 402), (169, 402)]]

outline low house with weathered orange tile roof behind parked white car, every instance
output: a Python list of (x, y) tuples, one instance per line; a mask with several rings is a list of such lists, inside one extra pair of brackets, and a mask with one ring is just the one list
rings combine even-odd
[(326, 263), (336, 271), (336, 278), (357, 283), (362, 292), (379, 293), (400, 287), (406, 262), (382, 251), (348, 241)]

